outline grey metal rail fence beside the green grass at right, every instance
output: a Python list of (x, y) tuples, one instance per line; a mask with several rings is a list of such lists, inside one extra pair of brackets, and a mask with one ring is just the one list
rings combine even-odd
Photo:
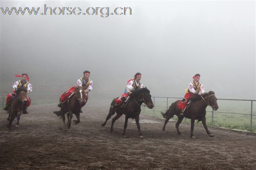
[[(168, 99), (182, 99), (182, 98), (174, 98), (174, 97), (158, 97), (158, 96), (152, 96), (153, 99), (153, 103), (154, 103), (154, 108), (153, 108), (153, 115), (155, 116), (155, 108), (156, 107), (162, 107), (165, 108), (163, 106), (156, 106), (156, 98), (165, 98), (166, 99), (166, 110), (169, 108), (169, 103), (168, 103)], [(243, 114), (243, 113), (231, 113), (231, 112), (219, 112), (219, 111), (214, 111), (212, 109), (212, 111), (207, 111), (207, 112), (211, 112), (211, 125), (213, 125), (214, 122), (214, 113), (224, 113), (224, 114), (237, 114), (237, 115), (248, 115), (250, 116), (250, 131), (253, 131), (253, 116), (256, 116), (256, 114), (253, 114), (253, 102), (255, 102), (256, 100), (248, 100), (248, 99), (218, 99), (218, 100), (228, 100), (228, 101), (250, 101), (251, 103), (251, 112), (250, 114)], [(143, 112), (145, 113), (145, 107), (143, 109)]]

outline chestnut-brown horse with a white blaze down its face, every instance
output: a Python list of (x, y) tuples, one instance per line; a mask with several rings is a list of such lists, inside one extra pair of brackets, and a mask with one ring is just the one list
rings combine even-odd
[[(70, 95), (70, 97), (62, 103), (62, 107), (60, 111), (54, 111), (53, 113), (56, 114), (60, 119), (63, 120), (63, 130), (65, 131), (66, 128), (71, 128), (71, 120), (73, 114), (76, 115), (77, 120), (73, 120), (75, 124), (80, 122), (80, 110), (84, 106), (85, 101), (85, 93), (84, 89), (81, 86), (75, 88), (75, 92)], [(65, 114), (67, 113), (68, 122), (65, 125)]]

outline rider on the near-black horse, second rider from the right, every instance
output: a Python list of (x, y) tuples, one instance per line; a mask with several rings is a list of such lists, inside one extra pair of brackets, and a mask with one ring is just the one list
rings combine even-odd
[(134, 92), (135, 89), (144, 88), (143, 84), (139, 82), (141, 80), (141, 74), (137, 72), (134, 75), (134, 79), (130, 79), (127, 81), (127, 85), (123, 95), (121, 95), (118, 99), (115, 100), (115, 104), (112, 107), (118, 106), (126, 101), (128, 96)]

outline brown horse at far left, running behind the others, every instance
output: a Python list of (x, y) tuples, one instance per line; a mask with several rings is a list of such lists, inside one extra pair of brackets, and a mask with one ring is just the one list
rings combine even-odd
[(19, 127), (19, 119), (27, 103), (26, 91), (27, 90), (23, 87), (18, 88), (18, 90), (16, 90), (16, 96), (10, 101), (10, 109), (8, 111), (9, 116), (7, 119), (9, 121), (9, 125), (7, 127), (7, 130), (11, 129), (11, 123), (13, 122), (15, 117), (17, 117), (16, 127)]

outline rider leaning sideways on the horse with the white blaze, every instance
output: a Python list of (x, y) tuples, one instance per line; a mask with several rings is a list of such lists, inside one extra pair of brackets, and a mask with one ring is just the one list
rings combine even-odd
[[(92, 87), (93, 87), (93, 82), (92, 80), (89, 79), (90, 77), (90, 72), (89, 71), (84, 71), (84, 77), (81, 77), (80, 79), (77, 80), (76, 82), (76, 86), (74, 87), (71, 87), (68, 91), (66, 91), (65, 93), (63, 93), (61, 96), (60, 96), (60, 103), (57, 104), (58, 107), (61, 107), (62, 106), (62, 103), (65, 102), (68, 97), (75, 92), (75, 88), (78, 87), (78, 86), (81, 86), (83, 87), (84, 89), (84, 93), (85, 93), (85, 101), (84, 103), (82, 104), (82, 107), (86, 104), (87, 100), (88, 100), (88, 93), (89, 91), (92, 90)], [(82, 110), (80, 110), (80, 113), (83, 113)]]

